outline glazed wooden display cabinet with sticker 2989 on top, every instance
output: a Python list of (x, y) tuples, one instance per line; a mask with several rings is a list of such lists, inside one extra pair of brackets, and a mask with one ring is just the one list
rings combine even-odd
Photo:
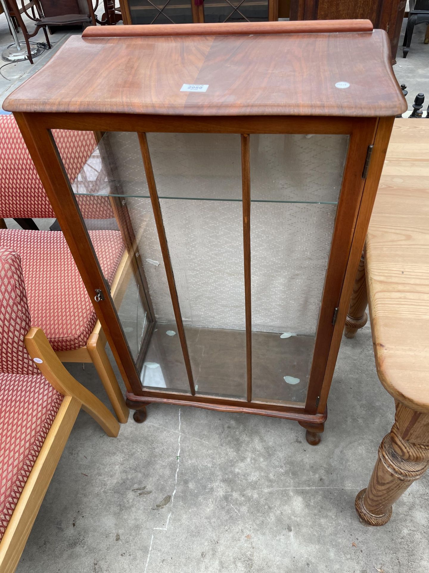
[[(369, 21), (87, 28), (6, 100), (134, 419), (174, 403), (294, 419), (319, 441), (406, 109), (389, 58)], [(96, 134), (77, 178), (53, 129)], [(121, 257), (113, 282), (93, 229)]]

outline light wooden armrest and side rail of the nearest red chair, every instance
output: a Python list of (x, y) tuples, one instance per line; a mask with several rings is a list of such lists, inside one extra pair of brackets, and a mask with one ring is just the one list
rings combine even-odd
[(18, 565), (80, 409), (92, 416), (110, 437), (116, 437), (120, 428), (106, 406), (67, 372), (40, 328), (30, 328), (25, 346), (31, 358), (42, 360), (37, 364), (39, 370), (64, 398), (0, 541), (2, 573), (13, 573)]

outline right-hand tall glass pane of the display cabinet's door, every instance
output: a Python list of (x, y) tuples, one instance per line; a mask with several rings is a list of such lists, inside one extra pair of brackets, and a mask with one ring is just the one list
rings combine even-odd
[(255, 400), (305, 401), (347, 148), (343, 135), (251, 136)]

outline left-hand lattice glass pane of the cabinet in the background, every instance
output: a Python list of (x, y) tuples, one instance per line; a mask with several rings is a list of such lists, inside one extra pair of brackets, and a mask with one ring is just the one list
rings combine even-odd
[(133, 24), (192, 23), (193, 0), (129, 0)]

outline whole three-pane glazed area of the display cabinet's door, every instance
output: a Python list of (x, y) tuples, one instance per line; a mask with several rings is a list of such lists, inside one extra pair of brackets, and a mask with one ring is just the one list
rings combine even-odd
[(62, 159), (142, 387), (302, 405), (348, 136), (249, 136), (246, 219), (239, 134), (85, 134)]

